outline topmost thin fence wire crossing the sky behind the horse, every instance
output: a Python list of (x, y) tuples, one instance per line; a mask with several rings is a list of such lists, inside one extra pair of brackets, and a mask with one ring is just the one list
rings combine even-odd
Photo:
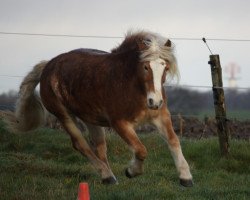
[[(41, 36), (41, 37), (68, 37), (68, 38), (98, 38), (98, 39), (122, 39), (124, 36), (109, 36), (109, 35), (75, 35), (75, 34), (49, 34), (49, 33), (28, 33), (28, 32), (6, 32), (0, 31), (0, 35), (17, 35), (17, 36)], [(170, 37), (172, 40), (186, 40), (199, 41), (201, 38), (191, 37)], [(236, 39), (236, 38), (206, 38), (210, 41), (222, 42), (250, 42), (250, 39)]]

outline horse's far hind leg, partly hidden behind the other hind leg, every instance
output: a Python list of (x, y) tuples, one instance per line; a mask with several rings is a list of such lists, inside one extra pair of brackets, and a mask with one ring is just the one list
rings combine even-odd
[[(107, 145), (105, 140), (105, 130), (103, 127), (85, 123), (89, 130), (90, 144), (96, 156), (109, 167), (107, 158)], [(110, 168), (110, 167), (109, 167)]]

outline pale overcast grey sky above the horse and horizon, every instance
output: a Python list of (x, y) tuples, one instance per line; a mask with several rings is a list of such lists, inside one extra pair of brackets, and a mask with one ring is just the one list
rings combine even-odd
[(210, 52), (203, 37), (249, 40), (207, 43), (213, 54), (220, 55), (224, 86), (229, 86), (226, 68), (235, 63), (240, 68), (236, 71), (237, 86), (250, 88), (249, 8), (249, 0), (0, 0), (0, 93), (18, 90), (23, 77), (41, 60), (77, 48), (110, 51), (131, 29), (148, 30), (172, 39), (180, 86), (212, 85)]

